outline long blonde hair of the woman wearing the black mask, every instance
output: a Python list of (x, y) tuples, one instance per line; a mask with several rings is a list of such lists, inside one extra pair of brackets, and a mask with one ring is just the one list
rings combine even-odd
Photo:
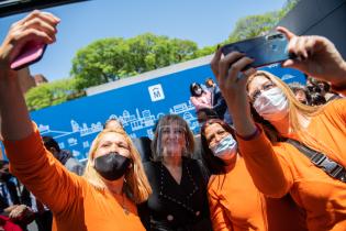
[(124, 178), (124, 191), (126, 196), (135, 204), (146, 201), (149, 195), (152, 194), (152, 188), (144, 173), (144, 168), (141, 162), (141, 155), (136, 147), (134, 146), (134, 144), (132, 143), (129, 135), (122, 129), (114, 130), (105, 129), (102, 132), (100, 132), (98, 136), (93, 140), (90, 147), (83, 177), (99, 190), (104, 190), (107, 188), (104, 182), (102, 180), (102, 177), (94, 169), (93, 158), (96, 151), (98, 150), (98, 146), (100, 144), (101, 138), (110, 132), (123, 135), (130, 146), (130, 158), (132, 160), (132, 167), (129, 168), (129, 170), (126, 170)]

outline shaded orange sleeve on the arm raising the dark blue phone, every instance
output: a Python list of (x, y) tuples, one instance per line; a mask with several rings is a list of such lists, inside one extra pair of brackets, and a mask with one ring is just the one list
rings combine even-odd
[(284, 160), (275, 153), (263, 131), (249, 141), (237, 136), (237, 142), (246, 168), (258, 190), (275, 198), (281, 198), (289, 193), (293, 184), (291, 170)]

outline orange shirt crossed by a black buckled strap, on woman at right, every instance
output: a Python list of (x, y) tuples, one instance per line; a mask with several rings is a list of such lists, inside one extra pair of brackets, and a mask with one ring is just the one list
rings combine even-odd
[[(346, 99), (326, 105), (306, 132), (326, 146), (330, 158), (346, 166)], [(309, 230), (346, 230), (346, 183), (328, 176), (294, 146), (271, 144), (264, 132), (250, 141), (238, 138), (238, 144), (261, 193), (277, 198), (290, 193), (305, 209)]]

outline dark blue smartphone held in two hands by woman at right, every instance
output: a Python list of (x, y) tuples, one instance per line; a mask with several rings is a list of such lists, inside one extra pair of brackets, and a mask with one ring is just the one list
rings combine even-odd
[(235, 51), (245, 53), (247, 57), (254, 59), (254, 63), (246, 68), (256, 68), (293, 58), (293, 55), (287, 52), (287, 44), (288, 40), (286, 36), (281, 33), (276, 33), (224, 45), (222, 53), (224, 55)]

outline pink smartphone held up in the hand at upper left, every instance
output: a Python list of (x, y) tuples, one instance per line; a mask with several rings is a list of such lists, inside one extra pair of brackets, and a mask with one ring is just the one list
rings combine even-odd
[(47, 44), (30, 41), (21, 50), (20, 54), (11, 62), (11, 68), (14, 70), (22, 69), (31, 64), (38, 62)]

